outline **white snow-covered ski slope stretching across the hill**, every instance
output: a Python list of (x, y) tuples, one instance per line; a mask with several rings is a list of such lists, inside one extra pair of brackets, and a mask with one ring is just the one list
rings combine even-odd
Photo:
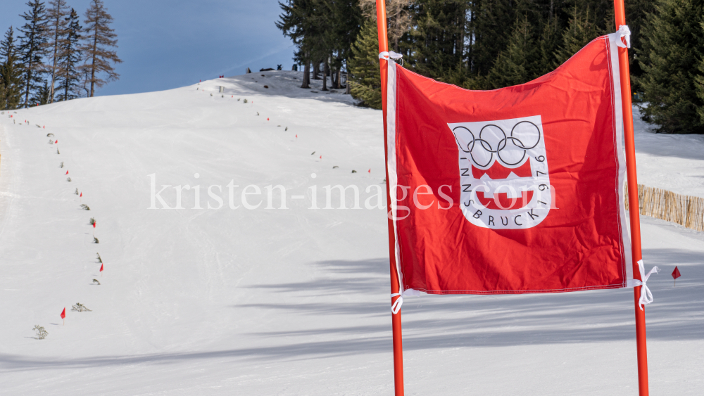
[[(393, 394), (386, 214), (364, 208), (384, 185), (381, 112), (300, 82), (255, 72), (0, 115), (0, 395)], [(704, 196), (701, 136), (636, 126), (639, 182)], [(149, 209), (150, 175), (188, 185), (184, 209)], [(363, 209), (322, 209), (337, 184)], [(266, 208), (276, 185), (287, 209), (276, 193)], [(646, 268), (662, 267), (650, 390), (700, 395), (704, 234), (642, 221)], [(422, 295), (403, 326), (407, 395), (637, 393), (631, 289)]]

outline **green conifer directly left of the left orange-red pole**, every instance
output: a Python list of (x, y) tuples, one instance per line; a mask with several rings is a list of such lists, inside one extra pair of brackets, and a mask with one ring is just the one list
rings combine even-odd
[(364, 106), (382, 108), (382, 80), (379, 70), (377, 21), (369, 18), (352, 46), (350, 58), (352, 97)]

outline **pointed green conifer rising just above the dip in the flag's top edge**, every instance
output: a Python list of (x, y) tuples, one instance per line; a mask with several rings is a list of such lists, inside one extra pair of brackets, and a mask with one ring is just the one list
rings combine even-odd
[(517, 20), (508, 47), (498, 54), (494, 67), (489, 70), (491, 88), (523, 84), (539, 77), (539, 48), (533, 34), (527, 15)]

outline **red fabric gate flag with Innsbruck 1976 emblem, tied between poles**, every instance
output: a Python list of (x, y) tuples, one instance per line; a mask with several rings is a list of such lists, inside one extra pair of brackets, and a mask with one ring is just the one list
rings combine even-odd
[(492, 91), (388, 62), (401, 292), (633, 286), (617, 40), (594, 39), (548, 75)]

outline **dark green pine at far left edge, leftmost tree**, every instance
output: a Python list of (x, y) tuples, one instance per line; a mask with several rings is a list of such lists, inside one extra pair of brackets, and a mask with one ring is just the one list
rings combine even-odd
[(10, 27), (0, 41), (0, 108), (14, 110), (22, 101), (22, 64), (15, 47), (14, 30)]

